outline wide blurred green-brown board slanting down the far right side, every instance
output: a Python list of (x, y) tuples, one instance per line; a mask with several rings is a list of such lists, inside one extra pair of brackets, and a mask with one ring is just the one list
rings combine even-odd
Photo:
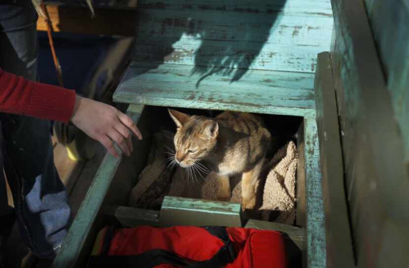
[(334, 0), (333, 9), (331, 58), (357, 266), (405, 267), (409, 170), (403, 164), (403, 132), (394, 120), (393, 98), (363, 2), (352, 6)]

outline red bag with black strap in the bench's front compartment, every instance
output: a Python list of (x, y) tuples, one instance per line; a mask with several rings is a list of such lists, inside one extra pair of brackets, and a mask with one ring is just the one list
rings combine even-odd
[(246, 228), (105, 227), (88, 267), (286, 268), (283, 235)]

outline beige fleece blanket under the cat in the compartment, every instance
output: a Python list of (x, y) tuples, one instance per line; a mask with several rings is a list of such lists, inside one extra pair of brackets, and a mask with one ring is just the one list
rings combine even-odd
[[(159, 210), (166, 195), (217, 200), (218, 182), (214, 174), (196, 173), (192, 178), (184, 168), (171, 168), (167, 160), (174, 150), (172, 137), (167, 131), (154, 135), (147, 166), (131, 192), (130, 206)], [(294, 224), (297, 163), (297, 148), (292, 141), (279, 149), (272, 159), (266, 159), (258, 185), (259, 219)], [(231, 202), (241, 201), (239, 182), (240, 176), (231, 178)]]

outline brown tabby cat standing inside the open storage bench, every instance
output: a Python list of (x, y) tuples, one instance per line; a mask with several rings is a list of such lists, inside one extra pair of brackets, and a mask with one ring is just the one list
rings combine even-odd
[(271, 143), (271, 134), (261, 117), (225, 111), (209, 118), (168, 109), (176, 124), (174, 160), (181, 167), (204, 162), (219, 178), (219, 200), (230, 200), (229, 177), (241, 175), (241, 205), (256, 205), (256, 185)]

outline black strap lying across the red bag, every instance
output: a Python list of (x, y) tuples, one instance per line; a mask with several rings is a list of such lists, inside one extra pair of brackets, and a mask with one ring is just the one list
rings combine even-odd
[[(91, 256), (88, 262), (88, 267), (93, 268), (107, 265), (108, 267), (117, 266), (133, 268), (137, 265), (137, 267), (140, 268), (151, 268), (160, 264), (171, 264), (184, 268), (221, 268), (232, 263), (236, 259), (236, 253), (226, 228), (220, 226), (205, 226), (203, 228), (213, 236), (218, 237), (224, 243), (224, 246), (208, 260), (202, 262), (189, 261), (181, 258), (174, 252), (161, 249), (151, 249), (138, 255), (107, 256), (107, 250), (104, 251), (106, 248), (104, 245), (107, 243), (109, 248), (110, 239), (113, 237), (113, 235), (109, 235), (109, 232), (107, 234), (110, 238), (104, 239), (103, 241), (102, 255)], [(105, 235), (105, 237), (107, 237), (107, 235)]]

